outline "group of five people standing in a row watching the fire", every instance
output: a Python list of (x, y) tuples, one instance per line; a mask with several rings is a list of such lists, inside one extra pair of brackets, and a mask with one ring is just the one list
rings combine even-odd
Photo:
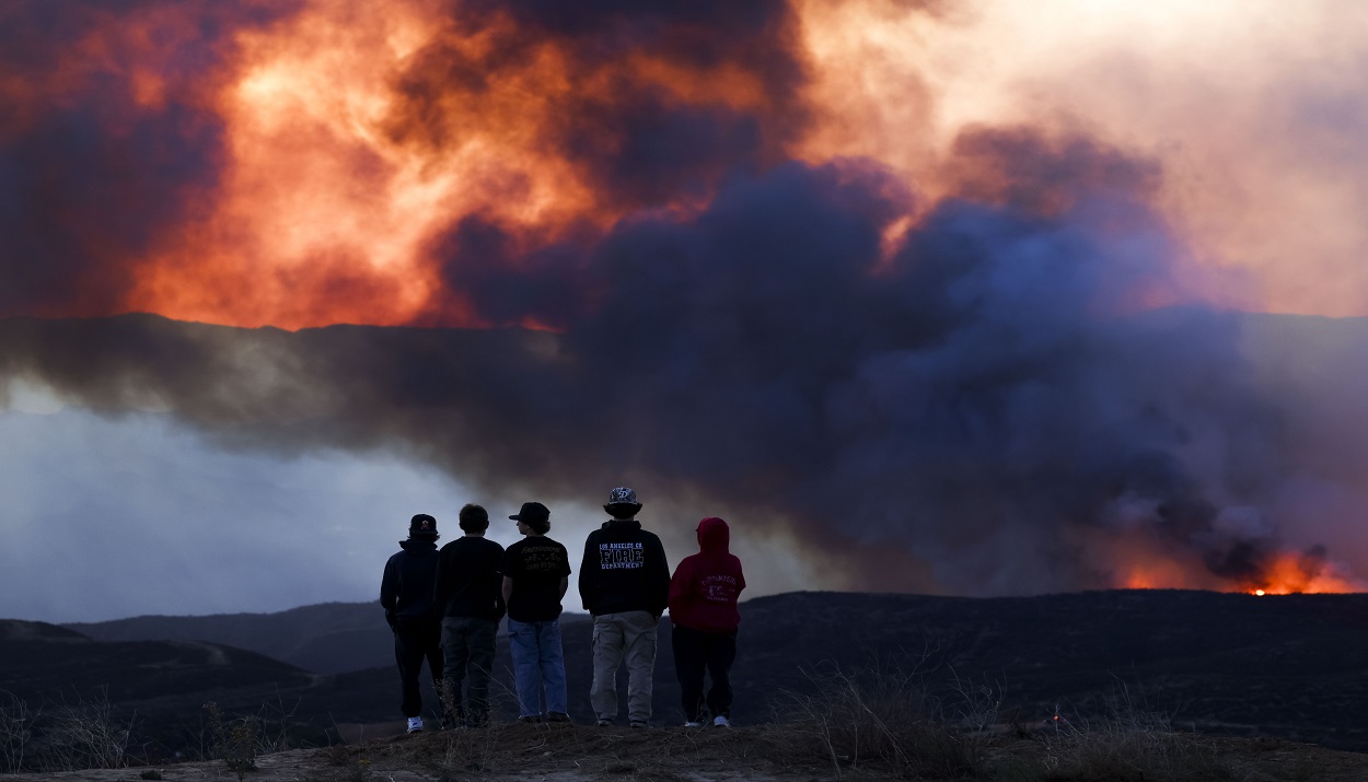
[[(635, 491), (614, 488), (603, 510), (610, 518), (588, 535), (579, 570), (580, 599), (594, 619), (590, 703), (596, 723), (610, 726), (617, 718), (617, 671), (625, 660), (628, 720), (632, 727), (651, 725), (657, 626), (668, 608), (685, 725), (731, 725), (736, 600), (746, 577), (729, 551), (726, 522), (702, 520), (699, 552), (670, 576), (661, 539), (636, 520), (642, 503)], [(424, 662), (442, 693), (443, 727), (477, 727), (488, 719), (494, 638), (505, 614), (518, 718), (570, 719), (560, 628), (569, 554), (547, 537), (551, 513), (544, 504), (524, 503), (509, 518), (524, 537), (505, 550), (486, 537), (488, 513), (466, 504), (458, 521), (464, 535), (439, 551), (436, 520), (417, 514), (409, 539), (384, 566), (380, 604), (394, 630), (409, 733), (423, 730)], [(711, 678), (706, 696), (705, 674)]]

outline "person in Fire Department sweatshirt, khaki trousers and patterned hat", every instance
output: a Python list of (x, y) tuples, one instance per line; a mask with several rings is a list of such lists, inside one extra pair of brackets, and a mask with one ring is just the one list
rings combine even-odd
[(590, 533), (580, 562), (580, 599), (594, 615), (594, 684), (590, 703), (599, 726), (617, 716), (617, 669), (627, 659), (627, 707), (632, 727), (651, 723), (655, 629), (669, 603), (665, 547), (642, 529), (636, 492), (620, 487), (603, 510), (613, 518)]

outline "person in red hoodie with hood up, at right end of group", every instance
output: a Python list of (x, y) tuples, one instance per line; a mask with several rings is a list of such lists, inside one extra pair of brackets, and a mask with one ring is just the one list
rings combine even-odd
[[(680, 679), (685, 725), (699, 727), (707, 714), (726, 727), (732, 716), (732, 662), (741, 614), (736, 597), (746, 589), (741, 561), (728, 551), (731, 530), (721, 518), (698, 522), (698, 554), (685, 556), (670, 578), (670, 647)], [(713, 679), (703, 700), (703, 673)]]

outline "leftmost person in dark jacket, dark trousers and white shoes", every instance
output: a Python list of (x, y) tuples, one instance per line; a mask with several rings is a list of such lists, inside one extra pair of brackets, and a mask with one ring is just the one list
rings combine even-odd
[(380, 606), (394, 630), (394, 659), (399, 664), (402, 701), (408, 731), (423, 730), (423, 696), (419, 674), (423, 660), (432, 673), (432, 685), (442, 692), (440, 629), (432, 611), (432, 584), (436, 580), (436, 520), (425, 513), (409, 521), (409, 539), (384, 563)]

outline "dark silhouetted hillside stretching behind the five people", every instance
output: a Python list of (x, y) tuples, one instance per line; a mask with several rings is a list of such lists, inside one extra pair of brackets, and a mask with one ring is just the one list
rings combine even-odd
[[(1001, 714), (1021, 722), (1044, 720), (1056, 705), (1071, 719), (1096, 716), (1120, 695), (1133, 708), (1200, 730), (1368, 751), (1356, 708), (1368, 696), (1361, 664), (1368, 595), (1112, 591), (969, 599), (806, 592), (754, 599), (741, 610), (733, 669), (739, 722), (772, 719), (778, 693), (813, 692), (814, 678), (880, 669), (915, 671), (947, 712), (959, 707), (967, 685), (990, 686), (1001, 697)], [(297, 720), (324, 727), (393, 726), (399, 718), (389, 659), (369, 670), (308, 677), (239, 649), (96, 643), (51, 625), (12, 625), (29, 629), (0, 638), (0, 689), (52, 693), (77, 682), (108, 684), (111, 700), (120, 693), (145, 703), (137, 699), (167, 699), (185, 686), (179, 708), (194, 714), (209, 697), (204, 682), (218, 677), (220, 689), (238, 689), (216, 697), (222, 703), (231, 695), (238, 708), (285, 701), (297, 704)], [(570, 712), (588, 722), (591, 625), (583, 615), (566, 615), (562, 625)], [(321, 625), (317, 630), (327, 634)], [(498, 655), (497, 690), (508, 705), (502, 638)], [(679, 688), (668, 622), (658, 660), (657, 719), (672, 723)]]

